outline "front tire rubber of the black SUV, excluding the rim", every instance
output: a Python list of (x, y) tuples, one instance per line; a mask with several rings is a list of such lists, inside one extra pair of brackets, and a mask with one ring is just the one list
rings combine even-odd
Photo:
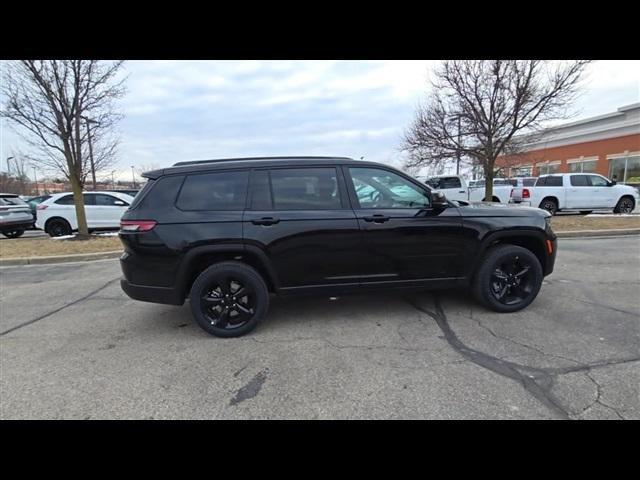
[[(533, 290), (525, 301), (518, 303), (517, 305), (505, 305), (500, 303), (491, 291), (491, 274), (494, 271), (496, 265), (505, 257), (518, 255), (526, 258), (532, 265), (533, 275)], [(499, 245), (489, 250), (482, 261), (480, 268), (478, 269), (474, 278), (474, 295), (480, 303), (490, 308), (493, 311), (500, 313), (517, 312), (528, 307), (533, 302), (540, 288), (542, 287), (542, 280), (544, 275), (542, 272), (542, 266), (538, 258), (529, 250), (517, 245)]]

